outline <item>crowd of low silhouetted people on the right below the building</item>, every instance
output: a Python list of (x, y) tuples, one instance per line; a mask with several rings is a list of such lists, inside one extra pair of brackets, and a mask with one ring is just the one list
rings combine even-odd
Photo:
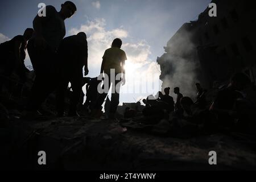
[(200, 83), (195, 86), (197, 94), (194, 101), (184, 97), (178, 87), (174, 88), (176, 102), (169, 96), (170, 88), (165, 88), (164, 94), (159, 92), (156, 96), (148, 96), (143, 100), (146, 105), (143, 115), (150, 123), (167, 119), (177, 124), (185, 120), (189, 126), (200, 126), (208, 131), (249, 132), (255, 129), (256, 88), (244, 73), (234, 74), (230, 84), (220, 89), (213, 100), (207, 100), (208, 91)]

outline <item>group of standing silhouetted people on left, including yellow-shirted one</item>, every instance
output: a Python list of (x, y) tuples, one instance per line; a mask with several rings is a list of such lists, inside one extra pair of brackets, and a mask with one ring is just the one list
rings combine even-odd
[[(26, 107), (27, 114), (40, 114), (39, 108), (42, 103), (46, 101), (49, 94), (56, 92), (57, 115), (64, 116), (65, 92), (70, 82), (72, 96), (68, 115), (78, 115), (77, 104), (80, 100), (82, 86), (84, 86), (83, 71), (85, 76), (89, 72), (88, 44), (85, 32), (64, 38), (66, 34), (64, 20), (71, 18), (76, 10), (76, 5), (71, 1), (63, 3), (59, 12), (53, 6), (46, 6), (46, 16), (36, 15), (34, 18), (34, 29), (27, 28), (23, 36), (15, 36), (13, 39), (0, 44), (2, 56), (0, 61), (1, 90), (2, 86), (5, 85), (6, 78), (9, 78), (14, 70), (18, 73), (22, 83), (26, 81), (27, 69), (24, 65), (26, 49), (30, 56), (35, 80)], [(122, 84), (125, 84), (124, 65), (127, 58), (121, 46), (122, 40), (114, 39), (112, 47), (107, 49), (102, 57), (101, 73), (109, 76), (102, 79), (105, 88), (110, 84), (115, 87), (121, 81)], [(110, 79), (110, 69), (114, 70), (115, 75), (122, 74), (119, 80)], [(106, 82), (107, 80), (108, 82)], [(97, 83), (99, 82), (101, 81), (97, 81)], [(89, 85), (86, 86), (86, 90), (88, 87)], [(97, 91), (97, 85), (93, 87), (94, 91)], [(115, 90), (117, 92), (112, 93), (110, 106), (110, 113), (113, 118), (119, 104), (119, 89)], [(102, 109), (101, 105), (107, 94), (107, 92), (101, 94), (97, 92), (92, 98), (88, 93), (86, 104), (90, 105), (94, 115), (97, 115), (98, 110)]]

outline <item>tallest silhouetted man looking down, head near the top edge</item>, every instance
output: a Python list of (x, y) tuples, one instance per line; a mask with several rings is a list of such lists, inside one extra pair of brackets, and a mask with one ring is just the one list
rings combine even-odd
[(64, 20), (75, 11), (75, 4), (66, 1), (59, 12), (53, 6), (46, 6), (46, 16), (36, 15), (33, 21), (35, 34), (27, 48), (36, 77), (28, 103), (29, 110), (37, 110), (56, 87), (56, 50), (65, 36)]

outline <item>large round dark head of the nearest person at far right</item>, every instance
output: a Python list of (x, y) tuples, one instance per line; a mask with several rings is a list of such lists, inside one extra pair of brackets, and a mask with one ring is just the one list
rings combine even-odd
[(250, 78), (244, 73), (236, 73), (231, 78), (231, 85), (237, 90), (243, 90), (247, 84), (250, 84)]

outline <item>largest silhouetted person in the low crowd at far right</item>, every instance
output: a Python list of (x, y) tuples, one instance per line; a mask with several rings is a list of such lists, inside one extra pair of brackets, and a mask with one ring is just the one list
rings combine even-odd
[(232, 76), (229, 86), (218, 92), (216, 99), (210, 106), (210, 111), (217, 114), (218, 123), (221, 127), (228, 129), (234, 127), (236, 118), (239, 117), (236, 102), (245, 98), (241, 90), (245, 89), (249, 82), (249, 78), (244, 73), (236, 73)]

